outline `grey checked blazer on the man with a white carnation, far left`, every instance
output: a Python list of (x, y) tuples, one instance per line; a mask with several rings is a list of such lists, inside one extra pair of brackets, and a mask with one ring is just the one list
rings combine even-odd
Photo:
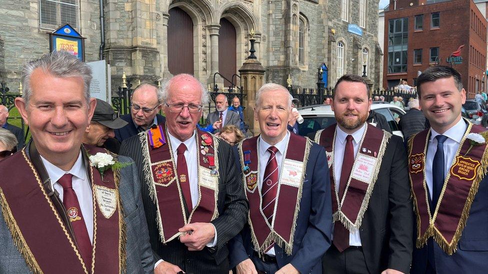
[[(29, 156), (28, 150), (27, 156)], [(20, 153), (20, 152), (18, 152)], [(121, 163), (132, 162), (128, 157), (118, 157)], [(0, 162), (1, 165), (1, 162)], [(14, 173), (14, 171), (12, 171)], [(126, 273), (152, 273), (154, 258), (149, 245), (149, 235), (144, 215), (144, 208), (140, 197), (140, 184), (135, 165), (123, 168), (120, 173), (119, 194), (124, 212), (127, 241)], [(2, 177), (0, 180), (8, 180)], [(1, 198), (0, 198), (1, 199)], [(41, 237), (41, 236), (39, 236)], [(53, 243), (55, 245), (55, 243)], [(114, 254), (114, 256), (117, 256)], [(69, 270), (60, 270), (59, 273), (69, 273)], [(30, 273), (25, 261), (14, 245), (10, 231), (5, 224), (0, 211), (0, 273), (25, 274)]]

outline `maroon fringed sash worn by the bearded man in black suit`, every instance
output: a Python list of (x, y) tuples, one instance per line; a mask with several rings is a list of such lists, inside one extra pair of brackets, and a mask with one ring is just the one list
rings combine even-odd
[[(334, 145), (336, 126), (317, 131), (315, 142), (325, 148), (330, 170), (330, 187), (332, 193), (332, 218), (341, 222), (350, 232), (359, 229), (362, 217), (367, 210), (369, 198), (376, 182), (386, 144), (391, 134), (366, 124), (359, 149), (357, 150), (352, 171), (347, 181), (343, 197), (338, 195), (335, 187)], [(335, 194), (335, 195), (334, 195)]]

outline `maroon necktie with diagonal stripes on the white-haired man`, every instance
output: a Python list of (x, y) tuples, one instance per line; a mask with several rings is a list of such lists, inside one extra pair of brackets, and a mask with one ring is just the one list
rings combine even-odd
[(274, 201), (278, 190), (278, 162), (276, 161), (276, 152), (278, 149), (270, 146), (267, 151), (271, 154), (267, 160), (266, 168), (262, 179), (261, 196), (262, 196), (262, 213), (268, 220), (269, 224), (273, 221)]

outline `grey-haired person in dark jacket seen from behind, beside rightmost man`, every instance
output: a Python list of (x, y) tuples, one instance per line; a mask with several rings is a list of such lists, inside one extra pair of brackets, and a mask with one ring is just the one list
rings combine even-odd
[(423, 115), (418, 105), (418, 99), (412, 99), (408, 102), (408, 110), (401, 116), (398, 124), (400, 125), (403, 140), (408, 140), (413, 134), (425, 129), (425, 115)]

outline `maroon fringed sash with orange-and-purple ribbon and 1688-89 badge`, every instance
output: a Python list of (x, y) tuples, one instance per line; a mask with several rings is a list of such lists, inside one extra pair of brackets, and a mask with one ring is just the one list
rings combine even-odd
[(198, 149), (197, 152), (190, 153), (198, 153), (198, 202), (193, 210), (188, 209), (190, 215), (187, 217), (180, 181), (188, 182), (189, 178), (177, 174), (167, 134), (164, 125), (139, 134), (143, 156), (142, 172), (149, 186), (149, 195), (156, 206), (156, 222), (162, 243), (178, 237), (178, 229), (186, 224), (209, 223), (218, 216), (218, 159), (215, 153), (217, 140), (209, 133), (196, 130), (195, 141)]

